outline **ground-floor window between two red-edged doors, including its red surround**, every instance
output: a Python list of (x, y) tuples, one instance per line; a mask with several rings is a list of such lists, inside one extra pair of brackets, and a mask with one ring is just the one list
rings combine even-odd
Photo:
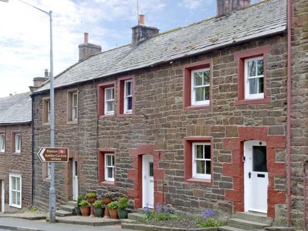
[(213, 138), (185, 138), (184, 163), (185, 182), (213, 184)]

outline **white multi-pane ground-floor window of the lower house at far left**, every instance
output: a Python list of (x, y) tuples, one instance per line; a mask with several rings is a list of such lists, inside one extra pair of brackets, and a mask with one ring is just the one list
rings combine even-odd
[(9, 205), (22, 208), (22, 176), (10, 174), (9, 177)]

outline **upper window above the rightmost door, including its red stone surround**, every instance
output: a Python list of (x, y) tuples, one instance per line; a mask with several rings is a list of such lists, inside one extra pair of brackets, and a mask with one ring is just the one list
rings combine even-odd
[(266, 54), (269, 46), (234, 53), (238, 60), (238, 100), (235, 105), (269, 103), (266, 97)]

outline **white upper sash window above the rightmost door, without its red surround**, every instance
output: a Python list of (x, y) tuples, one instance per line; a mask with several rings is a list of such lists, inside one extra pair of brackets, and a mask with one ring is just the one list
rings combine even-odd
[(263, 56), (245, 60), (245, 100), (264, 98)]

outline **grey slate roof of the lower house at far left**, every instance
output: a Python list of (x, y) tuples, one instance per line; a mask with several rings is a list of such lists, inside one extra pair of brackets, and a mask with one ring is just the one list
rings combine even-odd
[(31, 92), (0, 98), (0, 125), (28, 123), (32, 120)]

